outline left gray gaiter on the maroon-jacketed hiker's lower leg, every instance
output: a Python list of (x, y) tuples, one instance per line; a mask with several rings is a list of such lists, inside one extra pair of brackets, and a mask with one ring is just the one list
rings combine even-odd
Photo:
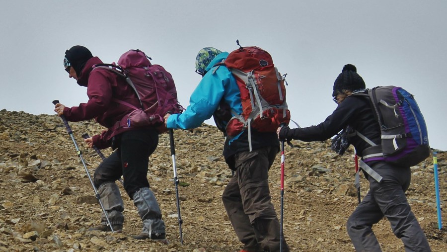
[[(123, 225), (124, 203), (118, 185), (112, 181), (102, 183), (98, 188), (98, 193), (104, 206), (104, 210), (107, 212), (110, 224)], [(104, 212), (101, 214), (101, 224), (108, 224)]]

